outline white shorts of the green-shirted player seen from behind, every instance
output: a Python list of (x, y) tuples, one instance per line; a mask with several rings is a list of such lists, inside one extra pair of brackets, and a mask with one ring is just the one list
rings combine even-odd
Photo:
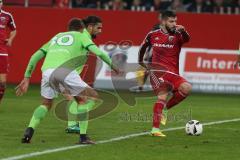
[(79, 95), (86, 87), (76, 71), (64, 68), (47, 69), (42, 73), (41, 95), (47, 99), (55, 98), (58, 93), (67, 93), (71, 96)]

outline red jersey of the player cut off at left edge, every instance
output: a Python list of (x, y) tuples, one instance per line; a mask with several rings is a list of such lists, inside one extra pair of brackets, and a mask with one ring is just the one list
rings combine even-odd
[(0, 10), (0, 53), (7, 53), (6, 39), (8, 39), (9, 30), (15, 29), (13, 16), (9, 12)]

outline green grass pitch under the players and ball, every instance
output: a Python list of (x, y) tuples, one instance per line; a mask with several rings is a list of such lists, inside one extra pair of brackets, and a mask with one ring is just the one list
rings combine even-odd
[[(141, 98), (135, 107), (120, 101), (113, 112), (90, 121), (88, 134), (93, 140), (101, 141), (149, 131), (154, 101), (154, 98)], [(23, 97), (16, 97), (14, 86), (8, 86), (0, 105), (0, 159), (72, 146), (78, 141), (77, 134), (65, 133), (66, 122), (57, 119), (51, 111), (37, 128), (32, 143), (20, 143), (32, 112), (40, 102), (39, 86), (31, 86)], [(189, 119), (205, 123), (240, 118), (240, 97), (192, 94), (171, 109), (169, 115), (169, 122), (162, 128), (184, 126)], [(187, 136), (184, 129), (165, 133), (166, 138), (143, 135), (25, 159), (238, 160), (240, 157), (240, 121), (204, 126), (201, 136)]]

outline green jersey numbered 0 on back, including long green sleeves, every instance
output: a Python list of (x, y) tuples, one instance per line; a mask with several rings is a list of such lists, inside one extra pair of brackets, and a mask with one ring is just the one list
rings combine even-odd
[(83, 32), (69, 31), (55, 35), (32, 55), (24, 76), (31, 77), (37, 62), (43, 57), (42, 71), (64, 67), (81, 73), (89, 51), (113, 67), (110, 57), (94, 44), (91, 35), (84, 29)]

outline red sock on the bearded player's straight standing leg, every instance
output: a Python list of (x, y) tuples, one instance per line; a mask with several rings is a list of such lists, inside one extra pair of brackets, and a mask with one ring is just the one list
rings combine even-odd
[(164, 100), (158, 100), (153, 107), (153, 127), (159, 128), (162, 110), (166, 104)]

